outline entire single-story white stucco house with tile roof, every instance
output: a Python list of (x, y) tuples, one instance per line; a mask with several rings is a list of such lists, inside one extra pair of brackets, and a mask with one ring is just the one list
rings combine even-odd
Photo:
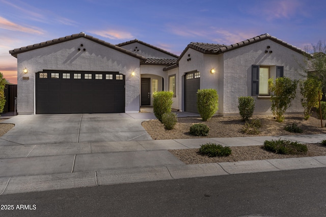
[[(9, 52), (17, 58), (19, 114), (139, 112), (160, 90), (174, 92), (173, 108), (197, 112), (204, 88), (218, 91), (220, 115), (238, 113), (240, 96), (255, 98), (255, 113), (270, 113), (267, 79), (301, 78), (298, 62), (307, 54), (268, 34), (230, 46), (190, 43), (180, 56), (85, 33)], [(288, 112), (302, 111), (298, 95)]]

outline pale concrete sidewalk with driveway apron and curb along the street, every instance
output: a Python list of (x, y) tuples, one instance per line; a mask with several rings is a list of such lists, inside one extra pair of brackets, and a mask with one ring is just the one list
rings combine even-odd
[(326, 156), (185, 165), (169, 149), (319, 143), (326, 134), (0, 146), (0, 195), (97, 185), (326, 167)]

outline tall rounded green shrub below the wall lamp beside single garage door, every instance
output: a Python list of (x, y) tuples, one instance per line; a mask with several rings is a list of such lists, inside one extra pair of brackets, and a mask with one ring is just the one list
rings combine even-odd
[(197, 109), (204, 121), (211, 118), (219, 109), (219, 95), (215, 89), (199, 89)]

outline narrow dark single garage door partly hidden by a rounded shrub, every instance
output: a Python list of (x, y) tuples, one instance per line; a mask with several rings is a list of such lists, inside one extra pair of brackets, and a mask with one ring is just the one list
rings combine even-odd
[(198, 113), (198, 89), (200, 89), (200, 72), (186, 73), (184, 81), (184, 111)]

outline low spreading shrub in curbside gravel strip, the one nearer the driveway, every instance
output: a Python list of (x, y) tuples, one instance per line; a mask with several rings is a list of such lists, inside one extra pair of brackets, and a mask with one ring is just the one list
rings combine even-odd
[(209, 142), (201, 145), (198, 152), (208, 157), (227, 157), (231, 154), (232, 150), (228, 146), (223, 147), (220, 144), (216, 145)]

